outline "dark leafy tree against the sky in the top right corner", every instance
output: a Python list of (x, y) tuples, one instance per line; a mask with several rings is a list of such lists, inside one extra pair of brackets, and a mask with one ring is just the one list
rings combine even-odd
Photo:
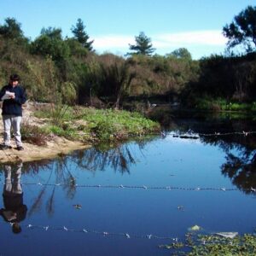
[(223, 28), (224, 37), (229, 38), (228, 48), (243, 44), (247, 52), (256, 47), (256, 6), (248, 6), (236, 15), (230, 25)]

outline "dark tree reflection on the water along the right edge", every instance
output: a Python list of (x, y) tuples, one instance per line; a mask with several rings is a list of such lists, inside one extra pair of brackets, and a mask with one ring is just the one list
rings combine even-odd
[[(176, 123), (177, 125), (177, 123)], [(179, 125), (184, 132), (196, 134), (234, 133), (232, 135), (201, 135), (202, 143), (218, 146), (226, 154), (226, 162), (221, 166), (221, 172), (229, 177), (231, 182), (246, 194), (255, 193), (256, 188), (256, 136), (236, 134), (242, 131), (256, 131), (252, 120), (241, 119), (180, 119)], [(252, 189), (253, 188), (253, 189)]]

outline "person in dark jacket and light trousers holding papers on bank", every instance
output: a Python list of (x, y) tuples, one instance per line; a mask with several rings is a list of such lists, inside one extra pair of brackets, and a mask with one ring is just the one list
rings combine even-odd
[(12, 74), (9, 84), (3, 86), (0, 91), (0, 99), (3, 101), (3, 145), (1, 149), (11, 148), (10, 131), (14, 130), (15, 143), (18, 150), (23, 150), (20, 135), (20, 124), (22, 118), (22, 104), (26, 102), (25, 90), (19, 84), (20, 77)]

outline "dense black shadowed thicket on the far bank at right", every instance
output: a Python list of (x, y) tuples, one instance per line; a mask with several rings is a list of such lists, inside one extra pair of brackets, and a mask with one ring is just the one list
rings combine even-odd
[(256, 96), (256, 52), (241, 56), (212, 55), (201, 59), (200, 75), (183, 90), (191, 105), (199, 97), (253, 102)]

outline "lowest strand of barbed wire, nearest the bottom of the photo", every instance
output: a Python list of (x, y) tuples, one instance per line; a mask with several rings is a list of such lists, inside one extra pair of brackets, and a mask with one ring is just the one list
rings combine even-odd
[(96, 234), (101, 236), (123, 236), (124, 238), (130, 239), (130, 238), (146, 238), (146, 239), (161, 239), (161, 240), (172, 240), (172, 241), (178, 241), (177, 237), (171, 237), (171, 236), (155, 236), (152, 234), (149, 235), (133, 235), (128, 233), (114, 233), (114, 232), (107, 232), (107, 231), (97, 231), (97, 230), (90, 230), (86, 228), (82, 228), (79, 230), (67, 228), (66, 226), (63, 227), (51, 227), (51, 226), (43, 226), (43, 225), (34, 225), (34, 224), (28, 224), (26, 226), (27, 229), (30, 230), (60, 230), (64, 232), (78, 232), (78, 233), (85, 233), (85, 234)]

